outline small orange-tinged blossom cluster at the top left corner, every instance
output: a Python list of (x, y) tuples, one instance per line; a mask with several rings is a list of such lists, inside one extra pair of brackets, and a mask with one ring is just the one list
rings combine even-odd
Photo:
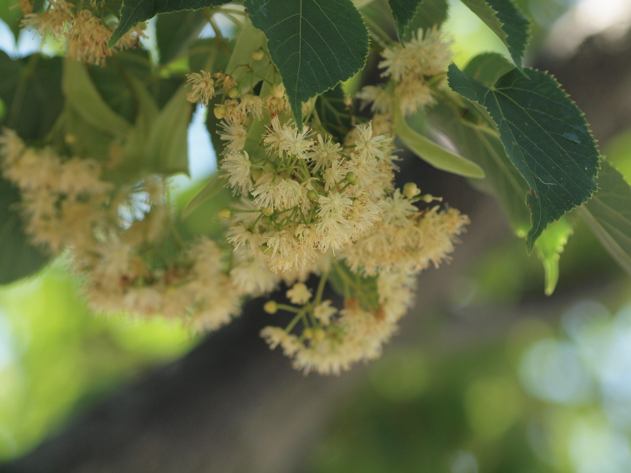
[(56, 41), (65, 40), (68, 57), (88, 64), (102, 65), (115, 50), (134, 47), (144, 37), (144, 23), (141, 23), (129, 30), (114, 48), (108, 49), (112, 30), (95, 11), (64, 0), (50, 0), (44, 13), (33, 13), (33, 4), (27, 0), (20, 1), (20, 8), (24, 13), (22, 28), (34, 28), (42, 37), (50, 35)]

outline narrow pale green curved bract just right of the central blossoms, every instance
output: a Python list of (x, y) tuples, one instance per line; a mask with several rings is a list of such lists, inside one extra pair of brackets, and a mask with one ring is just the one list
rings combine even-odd
[(401, 141), (419, 158), (442, 171), (451, 172), (464, 177), (483, 178), (484, 171), (473, 161), (456, 155), (442, 148), (429, 138), (417, 133), (406, 123), (401, 114), (401, 107), (395, 106), (392, 128)]

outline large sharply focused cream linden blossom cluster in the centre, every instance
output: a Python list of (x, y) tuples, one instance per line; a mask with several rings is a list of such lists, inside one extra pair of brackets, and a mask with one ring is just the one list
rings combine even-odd
[[(314, 129), (297, 126), (286, 102), (282, 85), (264, 85), (261, 95), (250, 91), (215, 109), (223, 117), (220, 173), (240, 198), (220, 217), (230, 223), (233, 258), (249, 268), (230, 274), (261, 293), (289, 284), (291, 304), (271, 300), (264, 309), (293, 320), (262, 337), (305, 373), (339, 373), (379, 356), (412, 303), (415, 275), (452, 252), (468, 218), (420, 209), (415, 204), (436, 199), (412, 183), (395, 189), (392, 137), (375, 134), (371, 122), (342, 144), (317, 119)], [(320, 277), (315, 294), (305, 284), (310, 274)], [(323, 300), (327, 281), (343, 307)]]

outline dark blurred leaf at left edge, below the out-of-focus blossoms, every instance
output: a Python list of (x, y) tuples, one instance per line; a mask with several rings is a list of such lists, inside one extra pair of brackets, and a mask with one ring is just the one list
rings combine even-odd
[(0, 284), (8, 284), (39, 271), (49, 261), (29, 243), (15, 204), (20, 192), (0, 178)]

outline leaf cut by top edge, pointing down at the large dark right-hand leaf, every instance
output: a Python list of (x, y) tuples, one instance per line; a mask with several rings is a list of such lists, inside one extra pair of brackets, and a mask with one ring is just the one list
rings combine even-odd
[(521, 60), (530, 39), (528, 18), (510, 0), (462, 1), (502, 40), (515, 65), (521, 70)]

